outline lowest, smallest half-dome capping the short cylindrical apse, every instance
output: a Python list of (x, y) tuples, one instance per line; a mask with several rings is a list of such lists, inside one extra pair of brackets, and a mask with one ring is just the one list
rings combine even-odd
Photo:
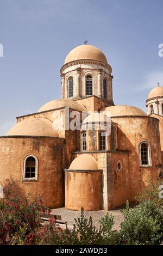
[(74, 159), (69, 167), (71, 170), (95, 170), (99, 169), (93, 156), (83, 154)]

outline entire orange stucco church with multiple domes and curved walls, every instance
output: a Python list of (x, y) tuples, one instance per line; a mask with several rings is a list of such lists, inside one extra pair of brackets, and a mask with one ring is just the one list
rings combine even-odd
[[(92, 45), (68, 53), (60, 74), (61, 99), (17, 117), (0, 137), (0, 185), (10, 181), (24, 196), (41, 194), (53, 209), (110, 210), (133, 202), (163, 176), (163, 87), (149, 93), (147, 114), (115, 106), (112, 68)], [(74, 113), (79, 129), (70, 129)]]

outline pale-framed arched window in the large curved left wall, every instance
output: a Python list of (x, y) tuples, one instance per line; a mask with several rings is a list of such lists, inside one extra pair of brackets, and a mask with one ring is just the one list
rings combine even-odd
[(23, 180), (37, 180), (38, 160), (35, 156), (27, 156), (24, 159)]

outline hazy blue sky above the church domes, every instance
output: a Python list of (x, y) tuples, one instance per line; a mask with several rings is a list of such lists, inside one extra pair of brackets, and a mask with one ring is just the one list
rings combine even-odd
[(0, 135), (61, 97), (60, 68), (85, 40), (112, 66), (115, 104), (145, 111), (163, 85), (162, 14), (162, 0), (0, 0)]

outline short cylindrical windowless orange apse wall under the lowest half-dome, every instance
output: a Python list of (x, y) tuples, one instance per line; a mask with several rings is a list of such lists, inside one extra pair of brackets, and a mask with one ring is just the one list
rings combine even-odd
[(96, 211), (101, 209), (101, 172), (65, 171), (65, 207), (69, 210)]

